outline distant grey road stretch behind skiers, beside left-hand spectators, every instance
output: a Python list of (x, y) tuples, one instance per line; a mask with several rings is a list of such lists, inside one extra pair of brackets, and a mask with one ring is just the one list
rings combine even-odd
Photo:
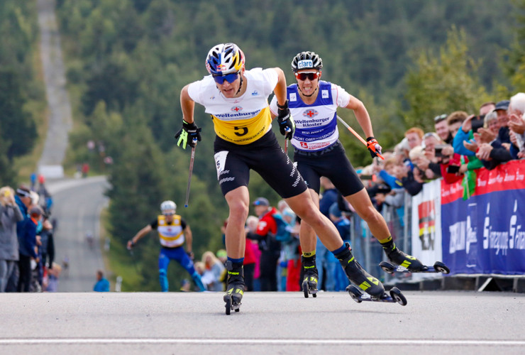
[[(104, 270), (101, 256), (100, 222), (102, 208), (107, 204), (104, 192), (108, 187), (104, 176), (83, 179), (65, 179), (46, 183), (53, 197), (52, 217), (57, 219), (55, 262), (65, 258), (69, 267), (62, 271), (59, 292), (93, 290), (96, 270)], [(94, 237), (92, 247), (86, 234)]]

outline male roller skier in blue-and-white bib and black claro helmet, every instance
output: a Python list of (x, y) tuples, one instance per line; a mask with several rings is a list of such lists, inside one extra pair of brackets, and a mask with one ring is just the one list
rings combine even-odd
[[(314, 52), (298, 53), (292, 60), (297, 84), (287, 87), (289, 110), (295, 119), (295, 133), (292, 138), (294, 162), (306, 181), (312, 199), (319, 207), (319, 180), (325, 176), (333, 182), (343, 197), (352, 204), (359, 217), (367, 222), (370, 231), (387, 253), (388, 258), (411, 271), (419, 271), (423, 265), (413, 256), (396, 248), (385, 219), (375, 209), (367, 191), (346, 157), (338, 141), (337, 109), (344, 107), (354, 111), (355, 117), (365, 132), (367, 147), (376, 156), (370, 116), (363, 102), (348, 94), (342, 87), (320, 80), (323, 61)], [(270, 104), (272, 116), (276, 116), (275, 98)], [(317, 288), (315, 267), (316, 235), (309, 224), (302, 223), (299, 231), (303, 251), (302, 261), (305, 272), (303, 287), (311, 291)], [(343, 265), (344, 267), (344, 265)]]

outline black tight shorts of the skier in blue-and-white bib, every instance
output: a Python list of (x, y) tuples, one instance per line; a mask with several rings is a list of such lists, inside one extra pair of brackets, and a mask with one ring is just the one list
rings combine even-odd
[(363, 190), (358, 174), (346, 157), (341, 142), (317, 152), (294, 152), (294, 162), (306, 185), (319, 195), (321, 176), (331, 180), (343, 196), (353, 195)]

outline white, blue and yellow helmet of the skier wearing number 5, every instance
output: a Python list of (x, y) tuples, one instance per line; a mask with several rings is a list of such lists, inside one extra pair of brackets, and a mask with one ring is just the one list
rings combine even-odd
[(235, 43), (221, 43), (209, 50), (206, 70), (211, 75), (226, 75), (244, 67), (244, 53)]

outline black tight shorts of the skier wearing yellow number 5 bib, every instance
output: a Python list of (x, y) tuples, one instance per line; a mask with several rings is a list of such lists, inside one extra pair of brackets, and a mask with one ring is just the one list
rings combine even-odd
[(255, 170), (282, 198), (306, 191), (306, 183), (292, 160), (282, 151), (272, 131), (243, 146), (216, 136), (214, 152), (223, 195), (240, 186), (248, 187), (250, 169)]

